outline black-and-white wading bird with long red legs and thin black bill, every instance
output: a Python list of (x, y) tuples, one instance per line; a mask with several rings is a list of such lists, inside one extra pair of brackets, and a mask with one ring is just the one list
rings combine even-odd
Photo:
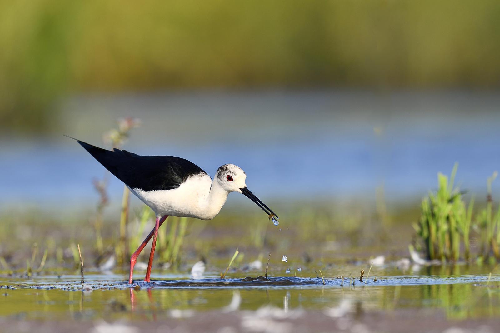
[[(72, 138), (72, 137), (71, 137)], [(130, 257), (132, 283), (137, 256), (151, 236), (153, 242), (144, 281), (150, 281), (158, 228), (168, 217), (212, 219), (224, 205), (230, 192), (239, 192), (255, 202), (277, 224), (279, 217), (246, 187), (246, 173), (234, 164), (224, 164), (214, 179), (196, 164), (175, 156), (141, 156), (126, 150), (106, 150), (75, 139), (99, 163), (123, 181), (130, 191), (156, 214), (156, 224)]]

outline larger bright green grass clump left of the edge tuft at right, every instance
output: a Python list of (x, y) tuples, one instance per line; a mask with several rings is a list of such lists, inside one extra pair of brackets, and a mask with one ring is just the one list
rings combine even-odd
[(453, 260), (460, 256), (463, 240), (465, 258), (469, 257), (469, 233), (473, 201), (466, 209), (461, 192), (453, 186), (458, 164), (448, 177), (438, 173), (438, 189), (421, 203), (421, 215), (414, 225), (428, 259)]

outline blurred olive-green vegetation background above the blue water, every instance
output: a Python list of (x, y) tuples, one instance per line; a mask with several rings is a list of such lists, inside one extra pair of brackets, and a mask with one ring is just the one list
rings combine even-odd
[(0, 1), (0, 128), (61, 98), (192, 88), (497, 88), (500, 2)]

